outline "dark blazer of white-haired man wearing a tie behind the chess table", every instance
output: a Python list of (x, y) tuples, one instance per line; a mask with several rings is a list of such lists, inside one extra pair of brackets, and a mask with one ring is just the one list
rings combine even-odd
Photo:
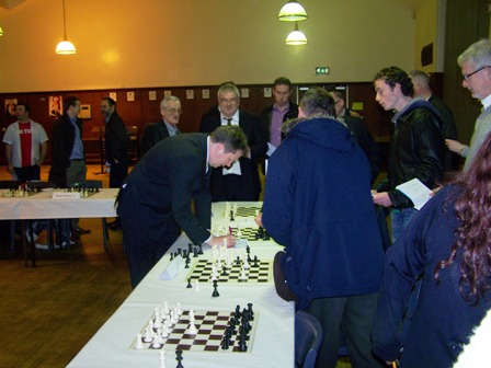
[[(220, 114), (209, 114), (199, 126), (201, 133), (212, 133), (221, 126)], [(267, 150), (266, 137), (262, 134), (259, 118), (244, 111), (239, 111), (239, 126), (248, 137), (251, 158), (241, 158), (241, 175), (222, 175), (221, 169), (212, 174), (212, 199), (218, 200), (258, 200), (261, 193), (261, 181), (256, 162)], [(226, 177), (228, 176), (228, 177)]]

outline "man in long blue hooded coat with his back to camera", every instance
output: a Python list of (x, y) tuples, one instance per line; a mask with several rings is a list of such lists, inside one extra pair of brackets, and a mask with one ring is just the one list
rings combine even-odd
[(334, 119), (326, 90), (307, 91), (298, 111), (270, 159), (262, 222), (285, 245), (282, 266), (297, 308), (322, 324), (316, 367), (335, 367), (341, 326), (353, 367), (380, 367), (369, 329), (384, 254), (368, 160)]

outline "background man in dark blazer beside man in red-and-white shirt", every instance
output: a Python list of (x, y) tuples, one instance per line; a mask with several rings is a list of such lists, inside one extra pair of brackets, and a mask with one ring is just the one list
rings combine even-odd
[[(64, 115), (53, 125), (52, 168), (48, 181), (58, 187), (71, 187), (85, 181), (83, 120), (78, 117), (79, 113), (80, 99), (69, 96), (64, 102)], [(76, 234), (90, 232), (80, 228), (78, 218), (71, 220), (71, 227)]]

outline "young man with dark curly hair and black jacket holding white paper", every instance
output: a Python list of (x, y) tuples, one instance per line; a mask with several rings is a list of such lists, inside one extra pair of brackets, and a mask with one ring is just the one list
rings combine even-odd
[(431, 103), (412, 99), (408, 74), (390, 67), (374, 79), (376, 101), (386, 111), (395, 110), (387, 180), (374, 193), (374, 203), (390, 207), (392, 242), (418, 212), (414, 204), (397, 186), (419, 179), (430, 189), (444, 175), (445, 141), (443, 120)]

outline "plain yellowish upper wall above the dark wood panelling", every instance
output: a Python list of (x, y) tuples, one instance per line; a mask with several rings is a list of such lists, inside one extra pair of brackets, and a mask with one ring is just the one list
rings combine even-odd
[[(0, 9), (0, 92), (370, 81), (413, 68), (413, 12), (389, 0), (305, 0), (306, 46), (286, 46), (285, 0), (67, 0), (77, 55), (58, 56), (60, 0)], [(316, 76), (318, 66), (330, 76)]]

